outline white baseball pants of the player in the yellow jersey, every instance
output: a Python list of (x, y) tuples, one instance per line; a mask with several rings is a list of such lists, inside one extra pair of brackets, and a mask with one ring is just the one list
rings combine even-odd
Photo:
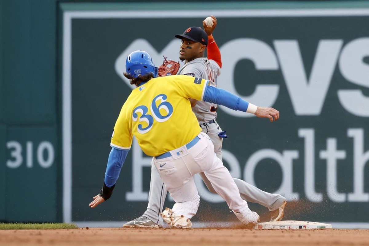
[(230, 209), (247, 213), (247, 202), (242, 200), (231, 174), (215, 155), (213, 142), (202, 132), (197, 137), (200, 138), (199, 141), (190, 149), (182, 146), (170, 151), (170, 157), (154, 158), (154, 165), (176, 202), (172, 208), (173, 215), (192, 218), (196, 214), (200, 196), (193, 176), (201, 172), (210, 180), (214, 190), (227, 202)]

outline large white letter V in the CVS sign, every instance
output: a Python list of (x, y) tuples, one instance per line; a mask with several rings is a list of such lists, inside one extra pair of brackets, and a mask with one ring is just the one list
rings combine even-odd
[(277, 40), (274, 46), (296, 115), (319, 115), (331, 83), (342, 40), (321, 40), (308, 79), (296, 40)]

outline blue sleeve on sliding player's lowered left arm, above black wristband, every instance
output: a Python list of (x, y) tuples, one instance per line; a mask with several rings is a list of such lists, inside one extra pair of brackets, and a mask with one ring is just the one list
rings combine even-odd
[(111, 148), (104, 179), (107, 187), (112, 187), (117, 182), (128, 151), (129, 150)]

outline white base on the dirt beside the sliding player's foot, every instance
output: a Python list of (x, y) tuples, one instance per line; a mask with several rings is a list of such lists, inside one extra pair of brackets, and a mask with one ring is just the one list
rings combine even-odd
[(276, 221), (263, 222), (255, 226), (255, 229), (326, 229), (332, 228), (331, 224), (311, 221)]

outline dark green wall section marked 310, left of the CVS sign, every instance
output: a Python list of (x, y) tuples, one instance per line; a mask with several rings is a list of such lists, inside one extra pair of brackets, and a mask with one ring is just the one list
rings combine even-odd
[(0, 221), (62, 218), (55, 14), (55, 1), (1, 1)]

